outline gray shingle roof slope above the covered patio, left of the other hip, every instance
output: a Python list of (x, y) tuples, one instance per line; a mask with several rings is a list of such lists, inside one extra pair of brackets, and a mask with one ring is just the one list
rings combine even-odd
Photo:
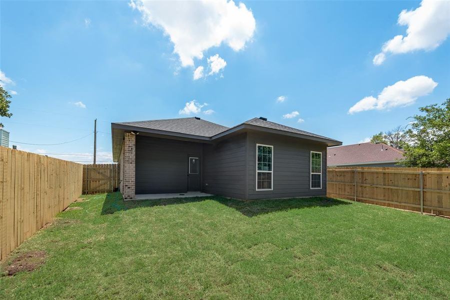
[(116, 124), (129, 125), (147, 129), (156, 129), (170, 132), (193, 134), (210, 137), (228, 129), (228, 127), (198, 119), (183, 117), (174, 119), (148, 120), (136, 122), (117, 122)]

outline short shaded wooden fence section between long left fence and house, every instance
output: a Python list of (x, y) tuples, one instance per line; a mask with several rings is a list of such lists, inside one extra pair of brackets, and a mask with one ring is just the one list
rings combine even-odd
[(112, 192), (119, 183), (117, 163), (83, 165), (83, 193)]

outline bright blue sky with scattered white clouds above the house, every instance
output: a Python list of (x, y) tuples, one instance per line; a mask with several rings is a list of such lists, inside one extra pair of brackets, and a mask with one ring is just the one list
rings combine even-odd
[[(349, 144), (405, 125), (418, 107), (450, 96), (450, 30), (445, 24), (423, 29), (426, 38), (435, 40), (420, 40), (419, 30), (383, 48), (394, 36), (406, 36), (408, 25), (414, 28), (415, 16), (406, 14), (409, 24), (404, 25), (397, 19), (403, 9), (420, 7), (420, 1), (238, 3), (227, 6), (224, 22), (240, 11), (242, 25), (223, 40), (219, 37), (220, 45), (208, 46), (217, 31), (212, 28), (205, 37), (208, 28), (195, 24), (224, 6), (192, 4), (189, 14), (167, 25), (176, 5), (164, 11), (167, 7), (140, 2), (133, 9), (127, 1), (1, 1), (0, 69), (10, 80), (3, 80), (5, 88), (16, 93), (13, 116), (1, 118), (10, 140), (50, 144), (78, 139), (92, 132), (97, 118), (97, 153), (104, 155), (97, 160), (110, 161), (110, 122), (189, 116), (180, 110), (195, 99), (193, 110), (199, 111), (190, 116), (226, 126), (265, 116)], [(174, 43), (175, 31), (181, 39), (185, 32), (197, 35), (191, 43)], [(235, 38), (243, 45), (229, 42)], [(194, 43), (206, 46), (200, 47), (203, 57), (191, 57), (189, 65), (174, 46), (184, 55), (195, 50), (189, 48)], [(380, 52), (385, 59), (375, 64)], [(217, 64), (210, 66), (208, 58), (215, 54), (220, 59), (211, 58)], [(203, 77), (194, 79), (198, 66), (204, 67)], [(408, 81), (415, 76), (421, 77)], [(405, 82), (396, 84), (400, 80)], [(279, 96), (284, 101), (277, 101)], [(373, 98), (348, 113), (368, 96)], [(208, 109), (213, 112), (205, 113)], [(93, 136), (61, 145), (16, 144), (33, 152), (84, 153), (51, 155), (88, 162)]]

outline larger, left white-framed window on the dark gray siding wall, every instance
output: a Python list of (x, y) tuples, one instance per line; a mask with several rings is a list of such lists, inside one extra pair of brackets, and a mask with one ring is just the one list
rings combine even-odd
[(256, 190), (273, 189), (273, 146), (256, 144)]

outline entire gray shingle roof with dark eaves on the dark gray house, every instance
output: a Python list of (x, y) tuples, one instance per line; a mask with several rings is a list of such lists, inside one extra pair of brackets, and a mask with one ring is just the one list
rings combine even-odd
[(123, 132), (125, 131), (139, 131), (145, 132), (146, 134), (160, 134), (185, 139), (212, 141), (244, 129), (311, 139), (318, 142), (324, 142), (328, 146), (342, 144), (342, 142), (336, 139), (267, 121), (267, 119), (263, 117), (249, 119), (231, 128), (202, 120), (199, 117), (185, 117), (111, 123), (112, 156), (114, 161), (118, 159)]

